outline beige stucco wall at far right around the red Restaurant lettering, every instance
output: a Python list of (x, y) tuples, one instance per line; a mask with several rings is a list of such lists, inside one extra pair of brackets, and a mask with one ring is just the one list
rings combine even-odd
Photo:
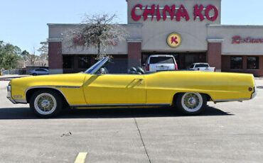
[(232, 37), (263, 38), (263, 26), (208, 26), (209, 39), (223, 39), (222, 55), (263, 55), (263, 43), (232, 44)]

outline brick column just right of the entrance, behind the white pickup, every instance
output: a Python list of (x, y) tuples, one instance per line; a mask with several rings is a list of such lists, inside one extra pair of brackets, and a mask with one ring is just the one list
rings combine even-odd
[(208, 39), (208, 52), (206, 60), (210, 67), (215, 67), (218, 72), (221, 72), (221, 57), (222, 57), (222, 40)]

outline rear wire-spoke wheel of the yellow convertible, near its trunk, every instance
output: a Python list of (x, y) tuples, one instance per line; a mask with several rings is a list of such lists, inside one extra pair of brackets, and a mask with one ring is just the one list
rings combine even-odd
[(186, 115), (198, 115), (205, 109), (206, 103), (205, 96), (195, 92), (180, 94), (176, 99), (176, 107)]

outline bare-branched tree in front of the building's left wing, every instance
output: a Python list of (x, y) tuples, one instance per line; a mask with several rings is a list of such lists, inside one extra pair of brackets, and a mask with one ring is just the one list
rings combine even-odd
[(70, 47), (96, 47), (97, 59), (104, 57), (107, 47), (117, 45), (120, 41), (126, 39), (127, 30), (124, 26), (114, 23), (117, 15), (109, 16), (85, 14), (80, 28), (68, 30), (67, 38), (69, 38)]

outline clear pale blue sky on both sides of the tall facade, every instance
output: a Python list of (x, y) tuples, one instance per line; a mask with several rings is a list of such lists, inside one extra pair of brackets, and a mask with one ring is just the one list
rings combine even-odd
[[(0, 40), (28, 52), (48, 38), (47, 23), (80, 23), (84, 13), (117, 13), (119, 23), (127, 23), (126, 0), (0, 0), (0, 5)], [(262, 7), (262, 0), (222, 0), (222, 24), (263, 25)]]

